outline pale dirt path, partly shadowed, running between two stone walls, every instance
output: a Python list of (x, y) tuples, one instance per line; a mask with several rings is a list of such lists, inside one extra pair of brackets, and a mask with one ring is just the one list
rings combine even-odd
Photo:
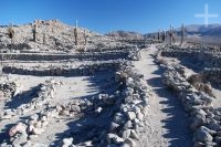
[(141, 60), (134, 62), (135, 69), (144, 74), (150, 88), (154, 91), (149, 99), (146, 128), (139, 136), (140, 146), (145, 147), (189, 147), (191, 133), (189, 120), (176, 96), (161, 83), (162, 69), (156, 63), (152, 55), (157, 52), (156, 45), (141, 51)]

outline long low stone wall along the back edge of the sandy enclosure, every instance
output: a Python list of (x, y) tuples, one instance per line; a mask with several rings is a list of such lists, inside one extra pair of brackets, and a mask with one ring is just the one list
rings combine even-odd
[(106, 63), (96, 63), (92, 65), (84, 65), (82, 67), (69, 69), (69, 67), (18, 67), (18, 66), (4, 66), (3, 73), (21, 74), (21, 75), (36, 75), (36, 76), (86, 76), (93, 75), (95, 72), (102, 71), (116, 71), (124, 62), (112, 61)]

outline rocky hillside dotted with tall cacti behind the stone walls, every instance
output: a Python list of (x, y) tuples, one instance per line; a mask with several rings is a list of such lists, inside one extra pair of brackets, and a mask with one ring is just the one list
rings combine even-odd
[[(33, 28), (36, 28), (36, 41), (33, 41)], [(42, 21), (11, 27), (14, 38), (9, 38), (10, 27), (0, 27), (1, 52), (72, 52), (75, 51), (74, 28), (59, 20)], [(86, 44), (85, 44), (86, 39)], [(98, 34), (85, 28), (77, 28), (77, 49), (96, 49), (107, 46), (108, 36)], [(108, 44), (109, 46), (109, 44)]]

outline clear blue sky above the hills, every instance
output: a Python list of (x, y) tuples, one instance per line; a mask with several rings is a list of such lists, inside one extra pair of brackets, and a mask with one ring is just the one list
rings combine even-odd
[(204, 12), (219, 14), (210, 23), (221, 23), (220, 0), (0, 0), (0, 24), (23, 24), (35, 19), (59, 19), (105, 33), (110, 30), (152, 32), (186, 24), (203, 24), (194, 18)]

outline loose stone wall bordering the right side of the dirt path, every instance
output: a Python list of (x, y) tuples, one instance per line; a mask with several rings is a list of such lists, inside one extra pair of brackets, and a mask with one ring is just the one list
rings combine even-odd
[(182, 66), (165, 66), (165, 85), (177, 93), (190, 115), (193, 145), (196, 147), (221, 146), (221, 109), (212, 106), (213, 97), (188, 83)]

